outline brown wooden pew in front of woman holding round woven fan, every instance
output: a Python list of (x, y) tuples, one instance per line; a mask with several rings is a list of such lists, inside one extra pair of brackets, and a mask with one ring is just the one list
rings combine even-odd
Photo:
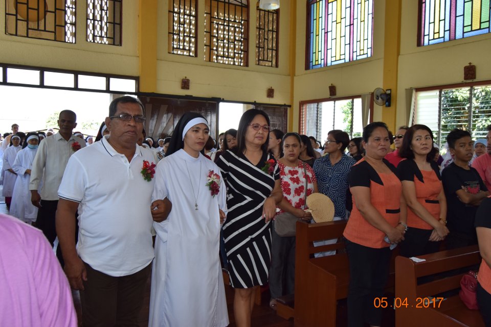
[[(295, 295), (278, 299), (277, 314), (294, 318), (296, 327), (335, 327), (339, 299), (348, 296), (349, 262), (343, 241), (346, 221), (308, 224), (297, 222)], [(334, 244), (315, 247), (314, 241), (337, 238)], [(397, 248), (396, 248), (397, 249)], [(336, 254), (314, 258), (315, 253), (336, 250)], [(389, 282), (394, 286), (394, 250)], [(292, 300), (293, 299), (293, 300)]]

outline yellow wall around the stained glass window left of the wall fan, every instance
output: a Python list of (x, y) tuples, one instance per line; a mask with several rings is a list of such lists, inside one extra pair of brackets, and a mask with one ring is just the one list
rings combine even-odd
[[(294, 122), (298, 130), (299, 102), (329, 97), (328, 86), (334, 84), (337, 96), (373, 92), (382, 87), (384, 68), (385, 1), (374, 1), (372, 57), (345, 64), (305, 70), (306, 2), (297, 4), (297, 62), (295, 72)], [(374, 120), (382, 118), (381, 107), (374, 108)]]

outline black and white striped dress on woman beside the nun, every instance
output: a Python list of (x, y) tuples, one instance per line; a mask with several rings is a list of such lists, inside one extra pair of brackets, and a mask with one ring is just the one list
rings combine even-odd
[(271, 263), (271, 221), (262, 217), (264, 201), (280, 178), (278, 164), (267, 174), (261, 170), (271, 154), (263, 154), (257, 166), (243, 154), (230, 150), (216, 164), (227, 185), (227, 220), (224, 224), (225, 248), (232, 287), (250, 288), (267, 283)]

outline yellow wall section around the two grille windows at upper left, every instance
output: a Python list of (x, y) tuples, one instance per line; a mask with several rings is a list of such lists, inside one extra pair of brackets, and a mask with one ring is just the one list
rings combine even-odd
[(5, 2), (0, 6), (0, 62), (138, 76), (138, 2), (123, 5), (122, 46), (85, 41), (86, 2), (77, 1), (76, 43), (5, 34)]

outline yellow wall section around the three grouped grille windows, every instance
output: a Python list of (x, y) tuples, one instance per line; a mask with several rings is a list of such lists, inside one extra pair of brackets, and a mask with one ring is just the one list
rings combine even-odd
[[(157, 92), (204, 97), (215, 96), (238, 102), (257, 101), (271, 104), (289, 104), (289, 8), (286, 2), (283, 2), (280, 8), (278, 68), (255, 64), (255, 0), (249, 1), (250, 8), (254, 8), (249, 11), (249, 67), (205, 62), (204, 1), (198, 2), (197, 57), (169, 54), (167, 43), (168, 6), (168, 1), (159, 1)], [(185, 77), (190, 80), (189, 90), (181, 89), (181, 80)], [(270, 87), (275, 89), (275, 97), (271, 99), (266, 97), (266, 90)]]

